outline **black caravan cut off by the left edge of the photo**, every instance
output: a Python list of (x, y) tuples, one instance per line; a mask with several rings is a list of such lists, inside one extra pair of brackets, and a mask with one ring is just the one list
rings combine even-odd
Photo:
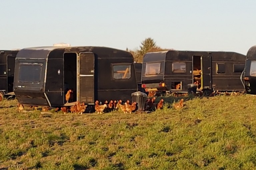
[(15, 57), (19, 50), (0, 50), (0, 95), (14, 95)]

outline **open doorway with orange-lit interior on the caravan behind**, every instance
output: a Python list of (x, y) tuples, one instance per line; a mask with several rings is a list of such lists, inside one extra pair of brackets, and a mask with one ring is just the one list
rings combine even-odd
[(201, 56), (193, 55), (193, 83), (198, 89), (201, 89), (201, 78)]

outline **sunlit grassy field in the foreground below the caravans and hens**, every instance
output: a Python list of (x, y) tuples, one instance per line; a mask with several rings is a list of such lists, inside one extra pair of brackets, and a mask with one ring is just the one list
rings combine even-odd
[(217, 96), (150, 114), (0, 109), (0, 170), (256, 169), (256, 98)]

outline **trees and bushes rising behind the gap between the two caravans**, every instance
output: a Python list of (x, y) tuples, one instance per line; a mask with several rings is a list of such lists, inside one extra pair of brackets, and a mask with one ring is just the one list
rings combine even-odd
[(146, 38), (144, 41), (142, 41), (139, 49), (131, 50), (126, 48), (126, 51), (129, 51), (133, 55), (134, 61), (136, 62), (142, 62), (143, 56), (147, 52), (157, 52), (157, 51), (166, 51), (166, 50), (174, 50), (174, 49), (161, 48), (160, 46), (156, 45), (156, 42), (152, 38)]

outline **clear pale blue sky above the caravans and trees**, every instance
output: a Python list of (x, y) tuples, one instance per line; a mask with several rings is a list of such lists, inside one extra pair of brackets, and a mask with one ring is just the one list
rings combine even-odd
[(53, 43), (246, 54), (256, 44), (255, 0), (2, 0), (0, 49)]

